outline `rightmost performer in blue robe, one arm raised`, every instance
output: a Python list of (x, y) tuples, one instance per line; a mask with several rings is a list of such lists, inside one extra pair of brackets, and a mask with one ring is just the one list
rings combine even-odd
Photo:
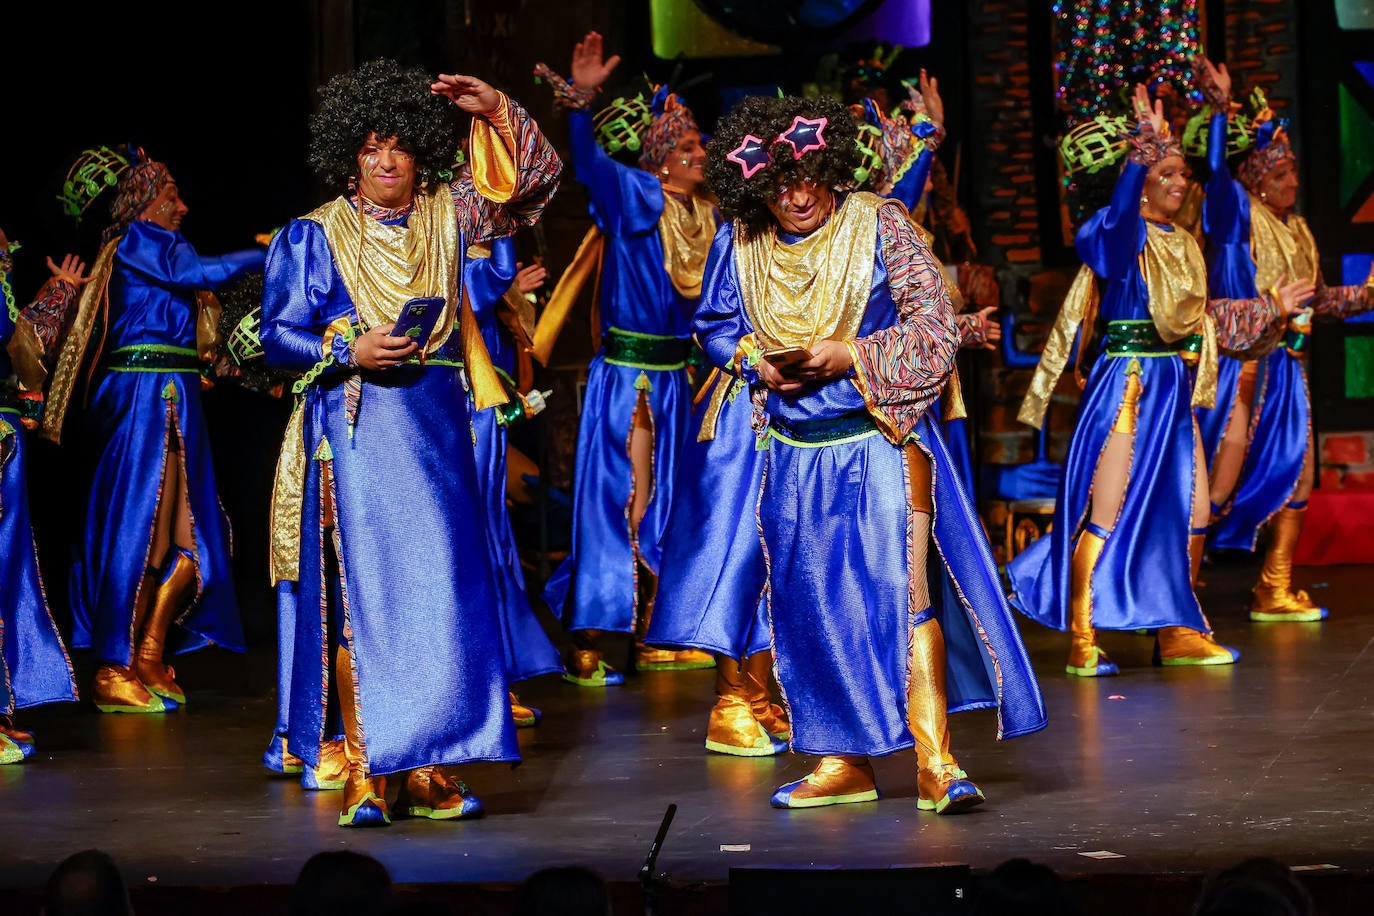
[[(1312, 317), (1345, 319), (1374, 308), (1374, 275), (1363, 286), (1327, 286), (1316, 240), (1293, 211), (1297, 159), (1283, 126), (1265, 107), (1228, 115), (1231, 77), (1204, 65), (1208, 91), (1208, 179), (1204, 229), (1212, 295), (1249, 298), (1285, 282), (1307, 283), (1307, 309), (1290, 319), (1282, 339), (1250, 358), (1221, 357), (1217, 407), (1198, 411), (1212, 474), (1210, 544), (1253, 551), (1268, 530), (1264, 566), (1252, 591), (1250, 619), (1320, 621), (1327, 615), (1293, 588), (1293, 552), (1312, 493), (1314, 455), (1307, 389)], [(1263, 93), (1259, 96), (1263, 104)], [(1228, 117), (1241, 119), (1252, 143), (1237, 181), (1227, 165)]]

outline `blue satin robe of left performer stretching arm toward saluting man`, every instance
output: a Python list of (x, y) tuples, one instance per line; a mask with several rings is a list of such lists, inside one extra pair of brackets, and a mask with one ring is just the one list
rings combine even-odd
[[(213, 290), (261, 269), (261, 250), (202, 257), (180, 232), (139, 220), (115, 249), (104, 353), (161, 345), (195, 349), (196, 290)], [(196, 372), (106, 372), (85, 411), (89, 441), (100, 450), (87, 512), (85, 542), (71, 577), (73, 639), (96, 659), (129, 665), (132, 621), (151, 556), (172, 435), (195, 533), (196, 593), (169, 633), (177, 652), (206, 644), (243, 651), (243, 628), (229, 566), (229, 520), (214, 489), (209, 431)]]

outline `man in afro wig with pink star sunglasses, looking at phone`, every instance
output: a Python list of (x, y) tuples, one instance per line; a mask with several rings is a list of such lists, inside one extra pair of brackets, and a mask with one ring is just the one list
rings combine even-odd
[(842, 191), (855, 135), (831, 99), (750, 98), (721, 121), (708, 174), (732, 221), (694, 324), (750, 386), (776, 676), (791, 748), (822, 755), (772, 803), (875, 799), (868, 757), (915, 744), (918, 808), (947, 813), (984, 801), (947, 713), (995, 707), (1011, 737), (1044, 705), (929, 416), (958, 347), (949, 295), (900, 203)]

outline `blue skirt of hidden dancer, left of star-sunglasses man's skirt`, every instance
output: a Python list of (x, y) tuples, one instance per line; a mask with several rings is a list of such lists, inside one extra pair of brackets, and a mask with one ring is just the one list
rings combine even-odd
[[(716, 385), (735, 379), (720, 375)], [(721, 404), (716, 437), (698, 442), (709, 402), (705, 391), (679, 460), (644, 641), (738, 659), (768, 648), (768, 570), (756, 514), (767, 452), (754, 448), (747, 386)]]

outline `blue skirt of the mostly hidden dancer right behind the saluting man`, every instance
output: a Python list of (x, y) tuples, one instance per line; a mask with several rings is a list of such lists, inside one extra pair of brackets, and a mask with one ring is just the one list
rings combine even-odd
[(558, 647), (550, 641), (529, 604), (515, 529), (506, 507), (506, 426), (496, 420), (496, 411), (475, 411), (471, 397), (469, 409), (473, 411), (473, 435), (477, 439), (477, 483), (486, 508), (486, 536), (496, 582), (496, 608), (502, 621), (506, 674), (513, 681), (523, 681), (562, 672), (563, 661)]

